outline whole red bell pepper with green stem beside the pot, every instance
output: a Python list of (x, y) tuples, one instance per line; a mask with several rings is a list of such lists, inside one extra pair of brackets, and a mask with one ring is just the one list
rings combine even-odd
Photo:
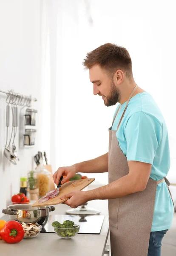
[(24, 230), (18, 221), (8, 221), (2, 230), (0, 230), (1, 238), (9, 244), (20, 242), (24, 237)]

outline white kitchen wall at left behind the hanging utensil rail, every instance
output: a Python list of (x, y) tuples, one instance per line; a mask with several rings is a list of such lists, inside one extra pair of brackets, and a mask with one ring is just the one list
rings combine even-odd
[[(37, 142), (33, 149), (19, 149), (20, 162), (12, 165), (4, 155), (6, 95), (0, 93), (0, 217), (11, 196), (20, 189), (20, 177), (33, 166), (40, 141), (40, 0), (0, 1), (0, 89), (32, 95), (39, 111)], [(20, 112), (20, 109), (19, 109)], [(18, 148), (18, 138), (16, 140)]]

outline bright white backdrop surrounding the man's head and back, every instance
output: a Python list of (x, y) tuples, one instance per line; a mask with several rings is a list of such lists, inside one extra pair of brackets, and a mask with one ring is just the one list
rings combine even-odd
[[(86, 2), (90, 4), (87, 10)], [(51, 76), (51, 86), (43, 89), (46, 101), (48, 90), (53, 94), (52, 103), (48, 101), (51, 127), (45, 130), (51, 132), (48, 144), (52, 143), (54, 169), (108, 151), (108, 128), (115, 108), (106, 108), (102, 99), (93, 95), (82, 61), (87, 52), (111, 42), (128, 49), (136, 83), (151, 93), (165, 117), (170, 139), (169, 179), (176, 183), (173, 0), (167, 4), (160, 0), (50, 0), (47, 4), (50, 63), (46, 63), (50, 69), (46, 69), (45, 76)], [(88, 17), (92, 18), (93, 26), (88, 24)], [(108, 182), (106, 173), (94, 177)]]

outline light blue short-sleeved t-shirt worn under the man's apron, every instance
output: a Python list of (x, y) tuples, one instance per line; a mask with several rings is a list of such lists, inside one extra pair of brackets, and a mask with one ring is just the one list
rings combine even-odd
[[(126, 102), (121, 105), (112, 130), (117, 129), (125, 106)], [(167, 175), (170, 169), (167, 127), (159, 107), (149, 93), (143, 92), (133, 96), (128, 103), (116, 137), (128, 161), (152, 164), (151, 179), (161, 180)], [(169, 229), (173, 212), (173, 203), (164, 181), (158, 184), (156, 189), (151, 231)]]

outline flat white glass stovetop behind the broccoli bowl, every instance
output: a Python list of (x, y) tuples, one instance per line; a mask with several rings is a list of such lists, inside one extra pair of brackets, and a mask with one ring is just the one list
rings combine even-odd
[(100, 234), (104, 217), (104, 215), (86, 216), (85, 218), (77, 215), (50, 215), (41, 233), (55, 233), (52, 227), (53, 221), (63, 223), (65, 220), (70, 220), (80, 226), (79, 234)]

